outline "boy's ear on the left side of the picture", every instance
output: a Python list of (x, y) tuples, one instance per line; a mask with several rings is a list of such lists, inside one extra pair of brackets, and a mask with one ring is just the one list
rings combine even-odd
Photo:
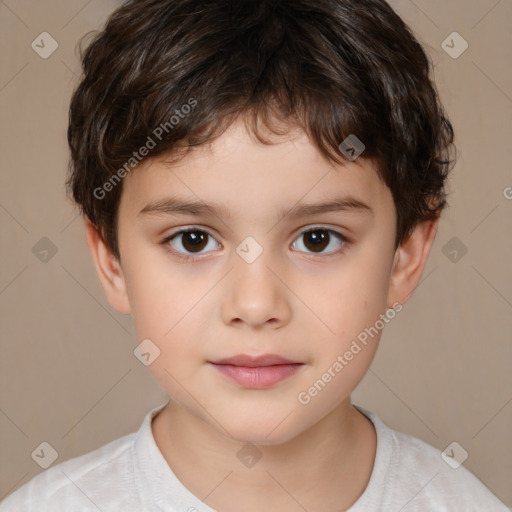
[(108, 302), (120, 313), (128, 314), (131, 309), (121, 264), (105, 244), (96, 226), (87, 216), (84, 219), (87, 244)]

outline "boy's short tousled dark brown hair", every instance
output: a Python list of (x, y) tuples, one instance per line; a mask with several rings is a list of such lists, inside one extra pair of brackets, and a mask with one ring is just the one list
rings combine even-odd
[(453, 128), (429, 58), (384, 0), (130, 0), (81, 58), (66, 185), (118, 259), (112, 180), (157, 127), (148, 158), (186, 153), (241, 115), (263, 143), (260, 122), (302, 128), (338, 163), (355, 135), (393, 195), (396, 247), (446, 206)]

